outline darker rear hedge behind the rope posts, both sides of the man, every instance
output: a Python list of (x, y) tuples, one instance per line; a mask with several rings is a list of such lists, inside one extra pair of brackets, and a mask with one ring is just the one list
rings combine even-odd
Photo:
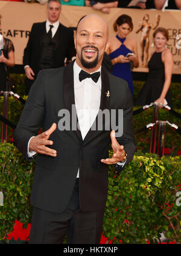
[[(26, 97), (24, 97), (26, 99)], [(2, 103), (3, 97), (0, 98), (0, 109), (2, 115)], [(19, 117), (21, 115), (22, 109), (24, 108), (24, 104), (17, 101), (12, 95), (9, 97), (8, 104), (8, 119), (17, 124), (19, 121)], [(134, 107), (134, 109), (138, 109), (138, 107)], [(177, 112), (181, 114), (181, 109), (176, 109)], [(181, 127), (181, 120), (174, 115), (170, 114), (167, 110), (160, 109), (159, 110), (159, 120), (168, 120), (170, 123), (175, 123), (177, 126)], [(146, 126), (149, 123), (153, 122), (153, 107), (148, 110), (145, 110), (141, 114), (135, 115), (133, 117), (134, 130), (135, 133)], [(2, 125), (0, 122), (0, 134), (1, 134)], [(158, 133), (157, 133), (158, 134)], [(0, 135), (1, 136), (1, 135)], [(144, 152), (149, 152), (150, 150), (150, 138), (151, 138), (151, 130), (146, 130), (145, 132), (136, 134), (136, 145), (138, 150), (143, 150)], [(8, 127), (8, 141), (13, 141), (13, 132), (10, 127)], [(170, 126), (166, 126), (165, 132), (165, 147), (170, 148), (171, 155), (176, 155), (177, 150), (180, 148), (180, 135), (171, 129)]]

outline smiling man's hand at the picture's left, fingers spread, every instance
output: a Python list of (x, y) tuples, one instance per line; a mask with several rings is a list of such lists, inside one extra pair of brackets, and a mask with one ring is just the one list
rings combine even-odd
[(52, 126), (46, 130), (45, 132), (34, 136), (30, 140), (29, 151), (34, 151), (39, 154), (45, 154), (49, 156), (57, 156), (57, 152), (54, 149), (49, 149), (45, 145), (52, 145), (53, 142), (49, 141), (48, 138), (52, 132), (54, 132), (57, 128), (57, 124), (53, 123)]

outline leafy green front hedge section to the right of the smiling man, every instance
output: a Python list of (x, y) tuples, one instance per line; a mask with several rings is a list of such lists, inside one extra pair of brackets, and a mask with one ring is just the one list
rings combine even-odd
[(113, 243), (147, 243), (167, 231), (171, 241), (181, 242), (180, 169), (178, 156), (151, 154), (135, 156), (119, 176), (110, 167), (104, 235)]

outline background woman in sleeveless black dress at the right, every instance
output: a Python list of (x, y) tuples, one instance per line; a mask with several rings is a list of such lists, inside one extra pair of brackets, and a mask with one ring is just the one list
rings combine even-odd
[(173, 72), (174, 60), (171, 51), (167, 49), (168, 31), (165, 28), (157, 28), (153, 34), (153, 42), (156, 50), (148, 62), (148, 78), (142, 88), (136, 106), (144, 106), (150, 103), (167, 104), (171, 106), (170, 84)]

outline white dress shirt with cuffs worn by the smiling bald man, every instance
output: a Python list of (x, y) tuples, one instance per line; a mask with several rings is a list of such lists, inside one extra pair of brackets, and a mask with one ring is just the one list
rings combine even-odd
[[(84, 139), (90, 127), (97, 117), (98, 110), (100, 109), (101, 102), (101, 75), (98, 78), (98, 82), (95, 83), (92, 78), (86, 78), (80, 82), (79, 73), (81, 71), (77, 62), (74, 63), (74, 95), (75, 95), (75, 107), (77, 110), (78, 124), (80, 126), (81, 136)], [(95, 72), (101, 72), (101, 67)], [(91, 73), (92, 74), (92, 73)], [(33, 137), (31, 137), (33, 138)], [(30, 139), (31, 139), (30, 138)], [(30, 141), (28, 142), (29, 149)], [(29, 152), (28, 156), (33, 157), (36, 152)], [(126, 161), (125, 161), (126, 162)], [(119, 165), (124, 165), (125, 162), (119, 162)], [(79, 178), (79, 170), (77, 173)]]

